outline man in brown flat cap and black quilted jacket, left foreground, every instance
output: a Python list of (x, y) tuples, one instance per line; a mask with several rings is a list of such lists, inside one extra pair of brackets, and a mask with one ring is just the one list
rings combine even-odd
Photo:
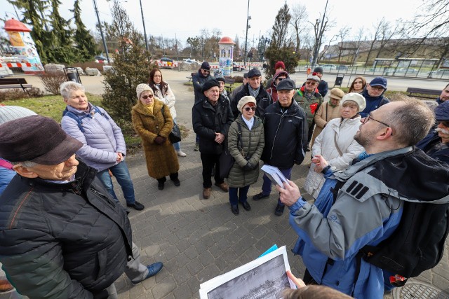
[(0, 156), (18, 173), (0, 197), (0, 262), (30, 298), (117, 298), (123, 272), (138, 284), (162, 268), (140, 263), (126, 211), (76, 159), (81, 146), (51, 118), (0, 125)]

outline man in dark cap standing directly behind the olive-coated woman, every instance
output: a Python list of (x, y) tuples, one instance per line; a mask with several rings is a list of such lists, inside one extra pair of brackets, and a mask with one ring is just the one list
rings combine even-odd
[(234, 118), (239, 116), (239, 109), (237, 109), (237, 104), (242, 97), (250, 95), (255, 97), (255, 102), (257, 102), (257, 109), (255, 111), (255, 116), (264, 118), (265, 109), (273, 103), (272, 97), (268, 94), (267, 90), (262, 86), (262, 73), (258, 69), (251, 69), (248, 71), (248, 84), (246, 84), (243, 89), (236, 95), (234, 102), (231, 104), (232, 113), (234, 113)]

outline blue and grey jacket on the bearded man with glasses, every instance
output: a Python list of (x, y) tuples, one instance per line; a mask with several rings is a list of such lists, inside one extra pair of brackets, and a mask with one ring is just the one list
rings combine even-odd
[[(403, 154), (417, 163), (406, 165), (408, 168), (399, 165), (393, 172), (380, 167), (382, 163), (387, 164), (383, 160)], [(434, 197), (434, 203), (449, 201), (447, 190), (432, 189), (445, 186), (443, 182), (434, 184), (436, 187), (425, 188), (408, 183), (410, 177), (420, 174), (428, 176), (433, 170), (427, 168), (438, 167), (420, 164), (419, 160), (423, 157), (425, 155), (419, 149), (407, 147), (371, 155), (344, 172), (332, 173), (328, 170), (328, 179), (315, 204), (309, 204), (300, 197), (290, 207), (290, 225), (300, 237), (293, 252), (302, 256), (315, 281), (354, 298), (383, 297), (382, 270), (362, 259), (356, 279), (356, 255), (363, 246), (375, 246), (396, 230), (402, 216), (403, 200), (417, 201), (416, 198), (426, 193)], [(413, 169), (416, 167), (420, 167), (421, 171)], [(408, 170), (401, 172), (401, 168)], [(381, 180), (380, 176), (390, 179)], [(333, 203), (331, 188), (337, 180), (347, 183), (339, 190)], [(408, 192), (406, 189), (411, 190)], [(408, 196), (407, 193), (416, 194), (417, 197)]]

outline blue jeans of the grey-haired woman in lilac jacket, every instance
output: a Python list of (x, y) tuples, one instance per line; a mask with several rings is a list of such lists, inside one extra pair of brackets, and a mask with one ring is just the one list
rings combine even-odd
[[(134, 186), (133, 181), (131, 181), (131, 176), (129, 174), (128, 165), (126, 165), (126, 162), (122, 161), (117, 165), (109, 167), (109, 170), (112, 174), (114, 174), (117, 182), (121, 186), (126, 203), (133, 204), (135, 202)], [(98, 172), (97, 177), (105, 185), (106, 190), (112, 195), (112, 197), (114, 197), (114, 200), (119, 202), (117, 195), (115, 195), (114, 185), (112, 185), (112, 179), (111, 176), (109, 176), (108, 169)]]

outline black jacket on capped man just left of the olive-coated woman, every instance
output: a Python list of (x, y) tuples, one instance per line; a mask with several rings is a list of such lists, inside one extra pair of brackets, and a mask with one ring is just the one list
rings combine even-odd
[(194, 131), (199, 135), (199, 151), (207, 154), (220, 155), (224, 144), (215, 142), (215, 133), (227, 136), (229, 126), (234, 121), (231, 107), (227, 99), (222, 95), (218, 99), (217, 106), (212, 106), (203, 95), (201, 102), (194, 104), (192, 109), (192, 125)]

